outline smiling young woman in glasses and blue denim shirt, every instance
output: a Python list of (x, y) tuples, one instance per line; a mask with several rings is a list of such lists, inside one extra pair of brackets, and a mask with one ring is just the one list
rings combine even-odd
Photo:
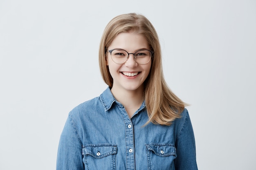
[(189, 114), (166, 85), (148, 19), (135, 13), (113, 18), (99, 65), (109, 87), (69, 113), (57, 170), (197, 170)]

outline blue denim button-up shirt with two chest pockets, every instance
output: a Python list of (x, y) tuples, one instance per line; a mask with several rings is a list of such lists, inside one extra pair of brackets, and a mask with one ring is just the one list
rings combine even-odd
[(171, 126), (149, 123), (145, 102), (130, 118), (110, 88), (76, 106), (58, 146), (57, 170), (197, 170), (188, 111)]

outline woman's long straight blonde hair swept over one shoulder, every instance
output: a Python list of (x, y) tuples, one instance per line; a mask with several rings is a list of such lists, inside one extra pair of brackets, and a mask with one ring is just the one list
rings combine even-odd
[(150, 50), (154, 51), (150, 73), (144, 82), (144, 98), (148, 112), (146, 124), (151, 121), (154, 124), (171, 125), (172, 121), (180, 117), (186, 104), (168, 88), (164, 80), (158, 35), (153, 25), (143, 15), (136, 13), (118, 15), (106, 26), (99, 48), (99, 66), (103, 80), (112, 88), (113, 79), (106, 65), (106, 49), (119, 33), (129, 31), (143, 35)]

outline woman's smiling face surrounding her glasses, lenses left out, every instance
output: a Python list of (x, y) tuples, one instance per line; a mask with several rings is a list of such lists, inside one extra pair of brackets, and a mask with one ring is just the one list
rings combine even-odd
[[(140, 49), (150, 50), (146, 39), (142, 35), (133, 32), (119, 33), (108, 47), (108, 50), (112, 49), (124, 49), (128, 53), (135, 53)], [(116, 64), (111, 59), (110, 53), (107, 52), (106, 62), (113, 78), (111, 91), (116, 93), (124, 91), (143, 93), (143, 83), (148, 77), (151, 60), (144, 65), (138, 64), (135, 62), (133, 55), (130, 54), (124, 64)]]

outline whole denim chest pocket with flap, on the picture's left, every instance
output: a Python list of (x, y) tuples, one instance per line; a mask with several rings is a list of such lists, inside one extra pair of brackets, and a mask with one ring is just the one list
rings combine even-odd
[(87, 170), (115, 170), (117, 145), (90, 144), (83, 147), (83, 163)]

